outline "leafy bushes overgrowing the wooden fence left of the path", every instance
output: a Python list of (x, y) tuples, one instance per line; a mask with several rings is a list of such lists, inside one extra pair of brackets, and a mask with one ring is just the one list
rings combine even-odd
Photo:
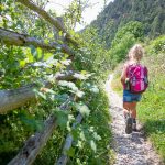
[[(47, 11), (51, 21), (47, 13), (33, 11), (44, 10), (46, 3), (3, 0), (0, 6), (0, 164), (19, 152), (33, 164), (54, 164), (62, 155), (73, 165), (108, 164), (113, 160), (109, 103), (102, 89), (108, 52), (95, 29), (74, 32), (85, 1), (73, 1), (64, 19)], [(7, 92), (12, 101), (4, 99)], [(63, 150), (67, 135), (72, 145)]]

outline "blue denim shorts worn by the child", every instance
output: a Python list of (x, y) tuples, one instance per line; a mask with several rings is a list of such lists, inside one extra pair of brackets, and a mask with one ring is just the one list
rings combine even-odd
[(139, 102), (141, 98), (141, 94), (132, 94), (130, 90), (123, 90), (123, 102)]

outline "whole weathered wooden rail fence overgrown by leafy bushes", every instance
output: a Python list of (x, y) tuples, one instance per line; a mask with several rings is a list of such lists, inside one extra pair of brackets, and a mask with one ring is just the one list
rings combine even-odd
[[(73, 50), (66, 44), (72, 43), (74, 46), (78, 46), (77, 41), (72, 37), (72, 35), (67, 32), (64, 24), (56, 18), (51, 16), (45, 10), (37, 7), (31, 0), (16, 0), (18, 2), (22, 3), (23, 6), (28, 7), (29, 9), (36, 12), (40, 16), (42, 16), (45, 21), (53, 25), (54, 29), (63, 32), (63, 43), (58, 44), (57, 42), (45, 43), (43, 40), (37, 40), (35, 37), (29, 36), (28, 34), (20, 34), (16, 32), (12, 32), (6, 29), (0, 28), (0, 41), (2, 44), (7, 45), (16, 45), (16, 46), (30, 46), (33, 45), (35, 47), (41, 47), (43, 50), (52, 51), (61, 47), (63, 53), (73, 57), (75, 53)], [(74, 72), (69, 74), (58, 74), (55, 75), (54, 79), (57, 80), (73, 80), (76, 79), (74, 77)], [(46, 88), (51, 88), (51, 82), (45, 82), (43, 85)], [(28, 101), (35, 98), (35, 92), (33, 88), (36, 85), (29, 85), (25, 87), (21, 87), (19, 89), (13, 90), (1, 90), (0, 91), (0, 114), (7, 113), (10, 110), (19, 108), (26, 103)], [(59, 109), (61, 110), (68, 110), (69, 102), (73, 101), (74, 98), (70, 97), (66, 102), (64, 102)], [(82, 120), (82, 116), (79, 113), (76, 118), (76, 122), (73, 124), (73, 129), (75, 129), (76, 124), (80, 123)], [(29, 140), (25, 142), (25, 145), (19, 152), (19, 154), (9, 163), (9, 165), (30, 165), (32, 164), (40, 151), (46, 144), (47, 140), (52, 135), (53, 131), (56, 129), (56, 117), (52, 113), (44, 122), (44, 128), (42, 131), (36, 132), (33, 134)], [(57, 165), (64, 165), (67, 163), (67, 153), (66, 151), (70, 148), (73, 143), (73, 136), (70, 134), (67, 135), (65, 145), (63, 147), (63, 153), (59, 160), (56, 162)]]

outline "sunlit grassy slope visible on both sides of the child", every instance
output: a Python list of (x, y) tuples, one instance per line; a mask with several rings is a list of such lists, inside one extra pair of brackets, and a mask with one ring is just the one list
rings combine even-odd
[[(165, 162), (165, 36), (144, 42), (143, 64), (148, 68), (150, 87), (138, 107), (138, 118), (146, 136)], [(114, 70), (112, 88), (122, 94), (121, 64)]]

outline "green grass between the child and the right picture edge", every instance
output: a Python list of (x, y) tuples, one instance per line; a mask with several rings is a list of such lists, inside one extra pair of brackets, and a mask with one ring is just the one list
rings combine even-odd
[(165, 163), (165, 55), (145, 58), (150, 70), (150, 87), (139, 107), (139, 119)]

